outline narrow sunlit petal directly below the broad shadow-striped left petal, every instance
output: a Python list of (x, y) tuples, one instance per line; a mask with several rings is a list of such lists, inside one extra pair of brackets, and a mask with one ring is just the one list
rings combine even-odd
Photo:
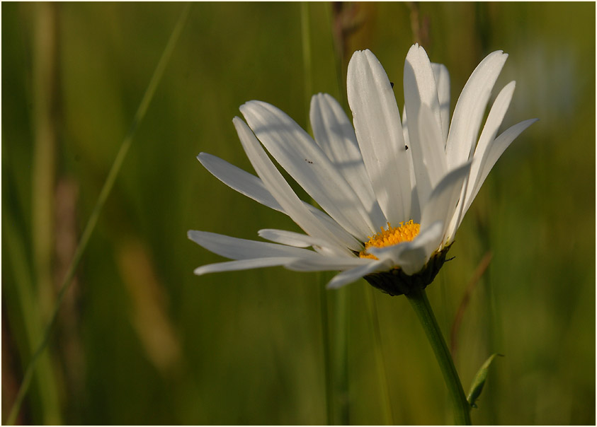
[(238, 117), (234, 117), (233, 122), (251, 165), (263, 180), (268, 191), (275, 197), (286, 214), (292, 218), (292, 221), (295, 221), (308, 235), (328, 240), (331, 244), (337, 245), (341, 252), (350, 253), (343, 242), (334, 233), (331, 233), (292, 191), (246, 123)]

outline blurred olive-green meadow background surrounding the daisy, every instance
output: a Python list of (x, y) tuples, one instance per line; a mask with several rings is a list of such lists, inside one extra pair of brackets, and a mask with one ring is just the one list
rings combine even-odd
[[(1, 5), (2, 421), (183, 8)], [(327, 423), (326, 354), (342, 341), (344, 300), (348, 421), (450, 423), (405, 298), (365, 281), (322, 291), (329, 276), (282, 268), (194, 276), (223, 259), (186, 238), (297, 230), (195, 156), (253, 172), (232, 126), (239, 105), (265, 100), (307, 127), (312, 93), (346, 107), (356, 49), (377, 55), (402, 109), (416, 40), (448, 66), (452, 107), (486, 54), (508, 52), (494, 90), (517, 82), (504, 129), (540, 119), (492, 170), (455, 259), (428, 288), (448, 340), (472, 289), (453, 334), (465, 391), (491, 353), (504, 354), (472, 420), (594, 424), (595, 12), (569, 2), (193, 4), (18, 422)]]

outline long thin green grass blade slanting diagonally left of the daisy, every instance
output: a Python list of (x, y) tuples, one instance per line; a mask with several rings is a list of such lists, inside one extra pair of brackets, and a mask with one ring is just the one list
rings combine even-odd
[(21, 387), (19, 387), (18, 393), (15, 398), (15, 402), (13, 403), (11, 411), (8, 414), (8, 419), (6, 421), (8, 424), (13, 424), (14, 421), (16, 420), (18, 411), (21, 408), (21, 404), (23, 403), (23, 398), (25, 397), (25, 394), (26, 394), (26, 392), (29, 388), (30, 382), (31, 382), (31, 378), (33, 377), (35, 365), (38, 363), (38, 360), (39, 360), (41, 354), (43, 353), (43, 351), (45, 350), (47, 342), (50, 339), (50, 335), (52, 333), (52, 327), (54, 326), (54, 324), (56, 322), (57, 314), (59, 312), (60, 305), (62, 304), (62, 300), (64, 299), (64, 295), (67, 293), (70, 283), (72, 283), (74, 273), (76, 271), (76, 268), (79, 266), (81, 257), (83, 256), (85, 249), (87, 247), (87, 244), (89, 243), (89, 238), (91, 238), (91, 234), (93, 233), (93, 230), (96, 227), (96, 224), (97, 224), (98, 218), (101, 214), (103, 205), (106, 203), (106, 199), (108, 199), (108, 196), (110, 195), (110, 192), (112, 191), (116, 177), (118, 177), (118, 172), (120, 172), (120, 168), (122, 167), (123, 161), (125, 160), (125, 157), (126, 157), (128, 151), (129, 151), (129, 148), (131, 146), (132, 138), (135, 135), (135, 131), (137, 131), (137, 127), (139, 127), (139, 124), (142, 122), (142, 119), (145, 116), (145, 113), (147, 112), (147, 108), (149, 107), (149, 104), (151, 103), (154, 93), (157, 89), (158, 83), (161, 80), (161, 77), (164, 75), (164, 69), (166, 69), (166, 64), (168, 64), (171, 54), (174, 51), (174, 47), (176, 46), (176, 42), (178, 41), (178, 37), (180, 37), (180, 35), (181, 35), (182, 29), (183, 29), (184, 23), (186, 21), (186, 18), (188, 17), (188, 12), (189, 12), (190, 8), (191, 8), (191, 4), (186, 4), (184, 6), (183, 11), (181, 12), (181, 15), (178, 18), (178, 21), (174, 27), (174, 30), (172, 31), (172, 33), (170, 35), (170, 38), (169, 38), (168, 43), (164, 49), (164, 52), (161, 54), (161, 58), (159, 59), (156, 69), (154, 70), (154, 74), (152, 75), (152, 78), (149, 81), (147, 89), (145, 90), (145, 93), (143, 95), (141, 103), (140, 103), (139, 107), (137, 108), (137, 112), (135, 112), (135, 117), (133, 117), (133, 119), (132, 119), (132, 123), (130, 125), (130, 128), (129, 128), (126, 136), (125, 136), (125, 139), (123, 140), (123, 143), (120, 145), (120, 149), (118, 150), (118, 153), (116, 155), (114, 163), (112, 164), (112, 167), (110, 168), (110, 172), (108, 172), (108, 177), (106, 177), (106, 181), (103, 184), (101, 192), (96, 201), (96, 205), (93, 207), (91, 216), (89, 216), (89, 221), (87, 221), (87, 224), (84, 228), (83, 234), (81, 235), (81, 240), (79, 241), (79, 245), (76, 247), (76, 251), (74, 253), (72, 262), (69, 265), (69, 268), (67, 269), (67, 274), (64, 276), (64, 281), (62, 281), (62, 284), (60, 285), (59, 292), (58, 292), (56, 302), (54, 305), (54, 309), (52, 311), (50, 321), (48, 322), (47, 326), (45, 327), (45, 331), (42, 336), (42, 341), (40, 342), (37, 349), (35, 350), (35, 353), (33, 353), (33, 356), (31, 357), (31, 361), (30, 361), (29, 365), (27, 366), (27, 369), (25, 370), (25, 373), (23, 375), (23, 382), (21, 382)]

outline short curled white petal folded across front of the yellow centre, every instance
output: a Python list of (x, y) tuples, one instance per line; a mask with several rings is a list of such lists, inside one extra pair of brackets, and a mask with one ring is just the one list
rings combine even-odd
[(426, 228), (411, 242), (403, 242), (387, 247), (370, 247), (368, 253), (379, 259), (391, 259), (393, 267), (400, 267), (406, 274), (421, 271), (431, 254), (438, 249), (443, 233), (443, 223), (436, 221)]

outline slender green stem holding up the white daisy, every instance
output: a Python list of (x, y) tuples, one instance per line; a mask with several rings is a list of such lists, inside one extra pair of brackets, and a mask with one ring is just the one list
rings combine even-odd
[(441, 329), (436, 316), (433, 315), (433, 310), (431, 309), (425, 290), (414, 288), (406, 295), (406, 299), (409, 300), (417, 317), (419, 317), (423, 329), (425, 329), (429, 344), (433, 348), (433, 353), (436, 353), (436, 359), (440, 365), (445, 385), (448, 386), (450, 401), (453, 406), (454, 423), (460, 426), (470, 426), (470, 404), (467, 402), (465, 391), (462, 390), (462, 384), (454, 366), (452, 355), (445, 344)]

